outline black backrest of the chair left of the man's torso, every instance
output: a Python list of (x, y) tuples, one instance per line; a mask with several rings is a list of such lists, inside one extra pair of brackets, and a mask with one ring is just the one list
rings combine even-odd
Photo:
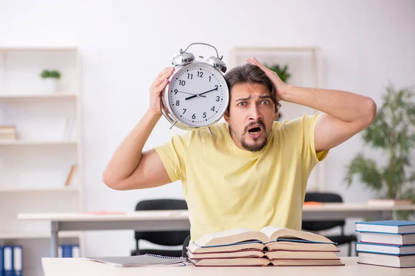
[[(183, 199), (148, 199), (139, 201), (136, 210), (187, 210)], [(162, 246), (179, 246), (190, 235), (190, 230), (183, 231), (136, 231), (135, 239), (145, 239)]]

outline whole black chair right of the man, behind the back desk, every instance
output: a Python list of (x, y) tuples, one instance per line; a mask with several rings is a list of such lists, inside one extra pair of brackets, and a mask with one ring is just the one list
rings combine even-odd
[[(343, 202), (340, 195), (335, 193), (306, 193), (304, 201), (317, 202)], [(351, 246), (357, 241), (356, 235), (344, 235), (344, 220), (326, 220), (326, 221), (302, 221), (302, 229), (308, 231), (329, 230), (331, 228), (340, 227), (341, 234), (326, 236), (338, 245), (349, 244), (349, 257), (351, 256)]]

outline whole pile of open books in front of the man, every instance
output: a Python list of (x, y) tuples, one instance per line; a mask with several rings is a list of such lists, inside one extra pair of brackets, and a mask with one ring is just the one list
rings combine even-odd
[(195, 266), (344, 266), (336, 252), (322, 235), (277, 226), (211, 233), (187, 247)]

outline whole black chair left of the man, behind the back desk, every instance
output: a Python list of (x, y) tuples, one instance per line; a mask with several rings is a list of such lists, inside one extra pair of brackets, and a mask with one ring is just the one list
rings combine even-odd
[[(136, 210), (187, 210), (187, 204), (182, 199), (151, 199), (138, 202)], [(135, 231), (136, 249), (131, 250), (131, 255), (156, 254), (169, 257), (181, 257), (182, 250), (138, 248), (138, 241), (142, 239), (161, 246), (181, 246), (189, 236), (190, 230)]]

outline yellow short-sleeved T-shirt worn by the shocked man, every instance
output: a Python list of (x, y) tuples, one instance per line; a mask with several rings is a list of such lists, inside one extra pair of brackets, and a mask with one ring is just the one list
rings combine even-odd
[(156, 147), (170, 179), (182, 181), (192, 241), (230, 228), (300, 230), (308, 176), (328, 153), (315, 152), (318, 116), (275, 121), (259, 152), (238, 148), (225, 123), (212, 136), (194, 130)]

